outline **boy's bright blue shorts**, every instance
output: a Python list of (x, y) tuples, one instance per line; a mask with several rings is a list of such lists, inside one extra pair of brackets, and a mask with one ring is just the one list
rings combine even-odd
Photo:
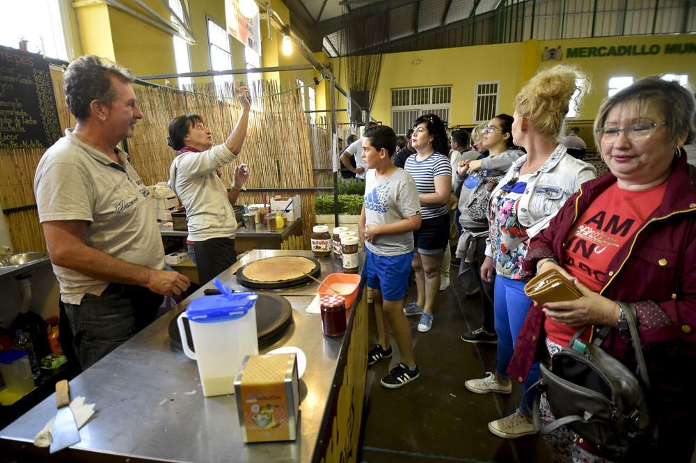
[(398, 256), (377, 256), (365, 249), (367, 286), (380, 290), (385, 301), (400, 301), (409, 291), (413, 251)]

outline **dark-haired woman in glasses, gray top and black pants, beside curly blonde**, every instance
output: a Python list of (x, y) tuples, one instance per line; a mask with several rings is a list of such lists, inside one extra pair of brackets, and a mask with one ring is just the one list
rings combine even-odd
[(485, 211), (471, 210), (471, 207), (480, 205), (480, 201), (475, 202), (475, 195), (488, 194), (512, 163), (524, 154), (514, 148), (513, 121), (509, 114), (498, 114), (491, 119), (482, 130), (481, 143), (487, 150), (486, 154), (480, 155), (477, 159), (459, 162), (452, 177), (452, 189), (457, 191), (461, 187), (459, 224), (462, 233), (457, 244), (457, 257), (462, 258), (459, 263), (459, 282), (467, 295), (473, 294), (475, 290), (480, 291), (483, 310), (483, 326), (460, 336), (466, 343), (498, 343), (493, 316), (495, 275), (491, 275), (491, 281), (482, 281), (480, 272), (486, 259), (488, 214), (482, 214)]

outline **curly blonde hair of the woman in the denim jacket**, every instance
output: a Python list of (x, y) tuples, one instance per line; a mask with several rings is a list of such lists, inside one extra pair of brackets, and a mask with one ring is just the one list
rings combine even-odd
[[(583, 86), (576, 85), (583, 79)], [(590, 80), (574, 66), (555, 65), (532, 77), (515, 97), (515, 111), (529, 118), (532, 127), (548, 139), (558, 139), (568, 113), (571, 97), (580, 91), (578, 101), (590, 89)]]

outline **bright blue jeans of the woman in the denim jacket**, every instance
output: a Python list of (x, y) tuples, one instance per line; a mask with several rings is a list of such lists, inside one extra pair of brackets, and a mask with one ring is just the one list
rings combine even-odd
[[(493, 298), (496, 333), (498, 333), (498, 366), (496, 366), (496, 373), (504, 378), (509, 377), (507, 375), (507, 366), (510, 363), (510, 359), (512, 359), (517, 335), (522, 328), (532, 302), (532, 299), (524, 293), (524, 285), (524, 281), (511, 280), (510, 278), (505, 278), (505, 276), (496, 275), (495, 297)], [(523, 390), (526, 392), (532, 384), (537, 382), (537, 379), (539, 379), (539, 362), (532, 364)], [(530, 395), (526, 403), (520, 402), (520, 409), (523, 413), (527, 415), (532, 414), (533, 399), (533, 395)]]

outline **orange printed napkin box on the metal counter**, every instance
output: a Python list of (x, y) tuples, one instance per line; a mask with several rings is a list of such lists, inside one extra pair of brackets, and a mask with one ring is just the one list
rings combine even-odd
[(299, 414), (295, 354), (246, 356), (235, 379), (244, 442), (294, 441)]

